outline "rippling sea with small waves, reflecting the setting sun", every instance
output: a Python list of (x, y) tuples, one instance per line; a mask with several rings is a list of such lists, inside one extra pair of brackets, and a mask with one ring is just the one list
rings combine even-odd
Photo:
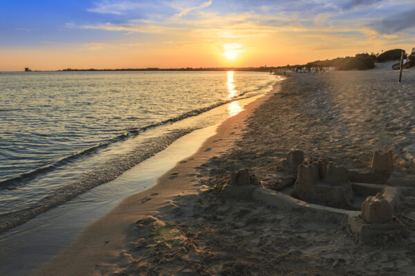
[(234, 100), (277, 80), (263, 72), (2, 72), (0, 226), (114, 179), (237, 114)]

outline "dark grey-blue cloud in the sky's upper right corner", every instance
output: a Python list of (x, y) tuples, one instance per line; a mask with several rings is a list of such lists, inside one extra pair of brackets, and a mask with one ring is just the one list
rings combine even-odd
[(380, 34), (393, 34), (415, 27), (415, 9), (394, 14), (380, 21), (370, 23), (368, 26)]

